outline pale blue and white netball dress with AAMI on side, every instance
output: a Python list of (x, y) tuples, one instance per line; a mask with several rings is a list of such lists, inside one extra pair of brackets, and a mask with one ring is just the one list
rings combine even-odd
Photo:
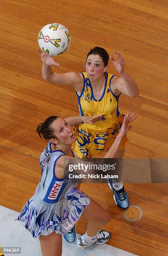
[(52, 151), (51, 143), (47, 144), (40, 156), (42, 175), (35, 194), (15, 219), (20, 220), (34, 238), (53, 231), (66, 234), (90, 203), (86, 194), (74, 188), (75, 183), (55, 176), (57, 160), (64, 155), (60, 150)]

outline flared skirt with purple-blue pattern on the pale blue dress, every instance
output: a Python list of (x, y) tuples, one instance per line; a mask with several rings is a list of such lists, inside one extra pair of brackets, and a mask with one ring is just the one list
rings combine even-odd
[(35, 194), (27, 201), (15, 220), (20, 220), (34, 238), (47, 236), (53, 231), (64, 235), (79, 220), (89, 203), (90, 198), (75, 188), (55, 204), (47, 204)]

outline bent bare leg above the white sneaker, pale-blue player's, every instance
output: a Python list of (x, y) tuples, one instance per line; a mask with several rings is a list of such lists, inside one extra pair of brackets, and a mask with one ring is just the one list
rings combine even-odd
[(82, 217), (89, 219), (86, 229), (88, 236), (95, 236), (111, 220), (110, 213), (94, 200), (91, 200), (86, 210), (82, 213)]

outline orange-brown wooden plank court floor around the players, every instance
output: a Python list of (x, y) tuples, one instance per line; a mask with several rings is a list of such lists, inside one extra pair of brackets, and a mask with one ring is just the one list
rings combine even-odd
[[(35, 132), (49, 115), (78, 115), (70, 87), (48, 84), (41, 77), (37, 35), (50, 22), (64, 24), (72, 36), (67, 53), (55, 58), (58, 72), (84, 71), (94, 46), (109, 54), (120, 51), (126, 72), (139, 87), (138, 98), (121, 96), (120, 110), (136, 111), (125, 158), (167, 158), (166, 0), (1, 0), (0, 1), (0, 205), (20, 211), (40, 179), (40, 152), (45, 142)], [(109, 72), (117, 74), (110, 63)], [(138, 255), (168, 255), (167, 184), (125, 184), (131, 205), (143, 211), (128, 222), (106, 184), (82, 190), (112, 215), (106, 226), (109, 244)], [(84, 232), (81, 218), (77, 231)]]

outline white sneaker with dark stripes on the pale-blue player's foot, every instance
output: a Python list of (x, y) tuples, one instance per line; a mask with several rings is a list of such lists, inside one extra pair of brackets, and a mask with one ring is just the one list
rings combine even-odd
[(97, 236), (96, 236), (96, 241), (94, 243), (87, 243), (86, 241), (84, 241), (84, 235), (83, 236), (79, 236), (75, 242), (76, 246), (79, 247), (79, 248), (82, 248), (82, 247), (87, 247), (87, 246), (91, 246), (93, 244), (103, 244), (103, 243), (106, 243), (110, 238), (111, 238), (111, 235), (109, 232), (107, 231), (104, 231), (104, 230), (100, 230), (98, 233), (97, 233)]

